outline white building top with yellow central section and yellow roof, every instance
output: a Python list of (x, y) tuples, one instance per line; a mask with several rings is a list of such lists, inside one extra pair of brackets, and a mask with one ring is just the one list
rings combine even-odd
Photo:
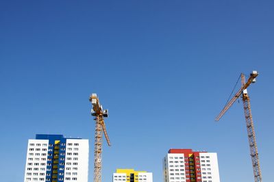
[(134, 169), (116, 169), (112, 179), (113, 182), (153, 182), (152, 172), (135, 171)]

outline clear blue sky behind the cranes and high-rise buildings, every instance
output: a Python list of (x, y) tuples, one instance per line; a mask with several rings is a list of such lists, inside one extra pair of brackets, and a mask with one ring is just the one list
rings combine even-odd
[(242, 103), (214, 122), (251, 70), (260, 72), (249, 94), (262, 175), (273, 180), (273, 9), (273, 1), (1, 1), (1, 181), (23, 181), (27, 140), (51, 133), (90, 139), (91, 182), (92, 92), (110, 111), (104, 182), (116, 168), (162, 182), (169, 148), (216, 152), (222, 182), (253, 181)]

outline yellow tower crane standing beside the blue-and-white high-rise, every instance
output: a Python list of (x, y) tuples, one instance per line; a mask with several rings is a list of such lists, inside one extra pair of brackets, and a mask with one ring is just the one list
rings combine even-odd
[(105, 139), (108, 142), (108, 146), (110, 146), (110, 138), (108, 138), (108, 133), (105, 129), (104, 121), (104, 118), (108, 117), (108, 109), (103, 110), (103, 106), (100, 105), (97, 94), (91, 94), (89, 100), (92, 103), (91, 115), (95, 116), (95, 159), (93, 181), (101, 182), (103, 133), (105, 135)]

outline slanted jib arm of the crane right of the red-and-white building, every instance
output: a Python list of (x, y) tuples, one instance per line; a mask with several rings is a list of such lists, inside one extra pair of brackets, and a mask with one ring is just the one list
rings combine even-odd
[[(227, 110), (229, 109), (229, 107), (231, 107), (233, 105), (233, 103), (238, 99), (238, 97), (240, 96), (240, 94), (242, 94), (242, 91), (247, 89), (248, 86), (251, 83), (254, 83), (256, 81), (256, 77), (258, 76), (258, 72), (256, 70), (253, 70), (253, 72), (250, 74), (249, 79), (247, 80), (247, 83), (245, 83), (244, 86), (242, 86), (240, 88), (240, 90), (238, 90), (238, 92), (233, 96), (233, 98), (227, 103), (227, 105), (225, 105), (225, 107), (223, 107), (223, 110), (220, 112), (220, 114), (215, 118), (215, 120), (220, 120), (221, 117), (225, 114), (225, 112), (227, 112)], [(244, 77), (244, 74), (241, 73), (241, 77)]]

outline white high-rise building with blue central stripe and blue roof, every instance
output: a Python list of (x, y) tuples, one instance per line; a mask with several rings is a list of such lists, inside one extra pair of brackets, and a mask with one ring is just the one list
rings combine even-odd
[(88, 182), (88, 140), (36, 135), (27, 144), (24, 182)]

